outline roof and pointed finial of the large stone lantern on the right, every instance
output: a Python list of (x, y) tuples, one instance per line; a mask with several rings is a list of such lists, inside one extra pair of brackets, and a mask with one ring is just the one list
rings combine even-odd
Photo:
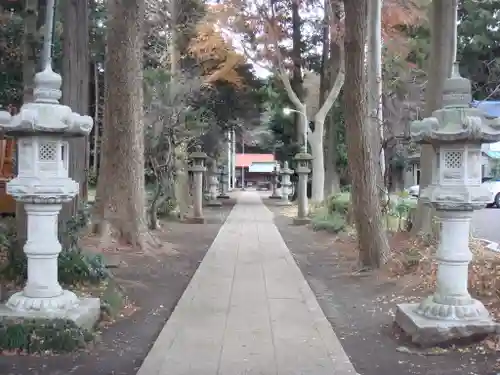
[(490, 118), (484, 111), (471, 108), (471, 83), (460, 76), (458, 64), (445, 81), (443, 108), (431, 117), (411, 124), (411, 137), (416, 143), (492, 143), (500, 139), (500, 118)]

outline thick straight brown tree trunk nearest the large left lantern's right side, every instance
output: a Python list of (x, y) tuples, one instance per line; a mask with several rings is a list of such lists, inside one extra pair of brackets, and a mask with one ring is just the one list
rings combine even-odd
[(143, 0), (109, 0), (104, 127), (95, 219), (139, 248), (148, 234), (144, 187)]

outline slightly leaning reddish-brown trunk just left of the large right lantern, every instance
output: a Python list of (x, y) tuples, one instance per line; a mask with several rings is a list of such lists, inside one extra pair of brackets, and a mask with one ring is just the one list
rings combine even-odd
[(377, 168), (367, 123), (364, 64), (368, 0), (345, 1), (346, 78), (344, 93), (347, 156), (352, 181), (352, 205), (358, 233), (360, 263), (380, 267), (387, 260), (389, 244), (377, 192)]

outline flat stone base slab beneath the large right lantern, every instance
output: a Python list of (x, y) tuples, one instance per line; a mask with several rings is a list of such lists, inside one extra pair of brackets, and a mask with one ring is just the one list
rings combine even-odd
[(474, 320), (436, 320), (417, 314), (418, 307), (418, 303), (399, 304), (395, 322), (412, 342), (423, 347), (500, 333), (500, 325), (489, 316)]

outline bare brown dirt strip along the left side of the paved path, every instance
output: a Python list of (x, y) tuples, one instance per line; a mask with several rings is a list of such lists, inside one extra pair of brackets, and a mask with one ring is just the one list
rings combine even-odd
[(124, 264), (113, 273), (137, 311), (104, 328), (94, 348), (70, 355), (0, 356), (0, 374), (135, 375), (234, 203), (206, 208), (204, 225), (164, 223), (169, 244), (163, 253), (120, 255)]

